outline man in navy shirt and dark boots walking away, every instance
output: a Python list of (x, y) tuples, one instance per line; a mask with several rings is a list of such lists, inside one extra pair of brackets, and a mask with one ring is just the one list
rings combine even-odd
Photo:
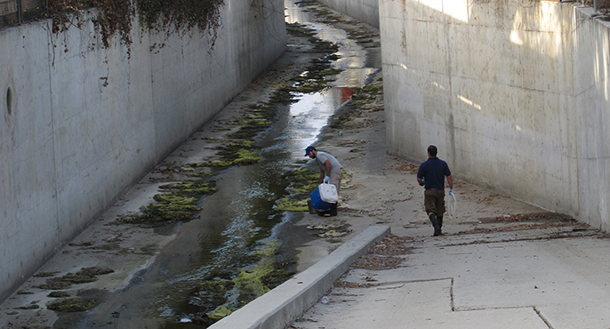
[(445, 176), (449, 183), (449, 195), (453, 196), (453, 178), (447, 163), (437, 157), (437, 147), (428, 147), (428, 160), (420, 164), (417, 182), (424, 187), (423, 204), (434, 227), (434, 237), (442, 236), (445, 213)]

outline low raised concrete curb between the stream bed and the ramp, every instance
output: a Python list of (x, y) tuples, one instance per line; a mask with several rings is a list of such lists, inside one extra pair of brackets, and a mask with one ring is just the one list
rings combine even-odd
[(317, 302), (349, 265), (389, 234), (389, 226), (371, 226), (324, 260), (265, 293), (209, 329), (284, 329)]

